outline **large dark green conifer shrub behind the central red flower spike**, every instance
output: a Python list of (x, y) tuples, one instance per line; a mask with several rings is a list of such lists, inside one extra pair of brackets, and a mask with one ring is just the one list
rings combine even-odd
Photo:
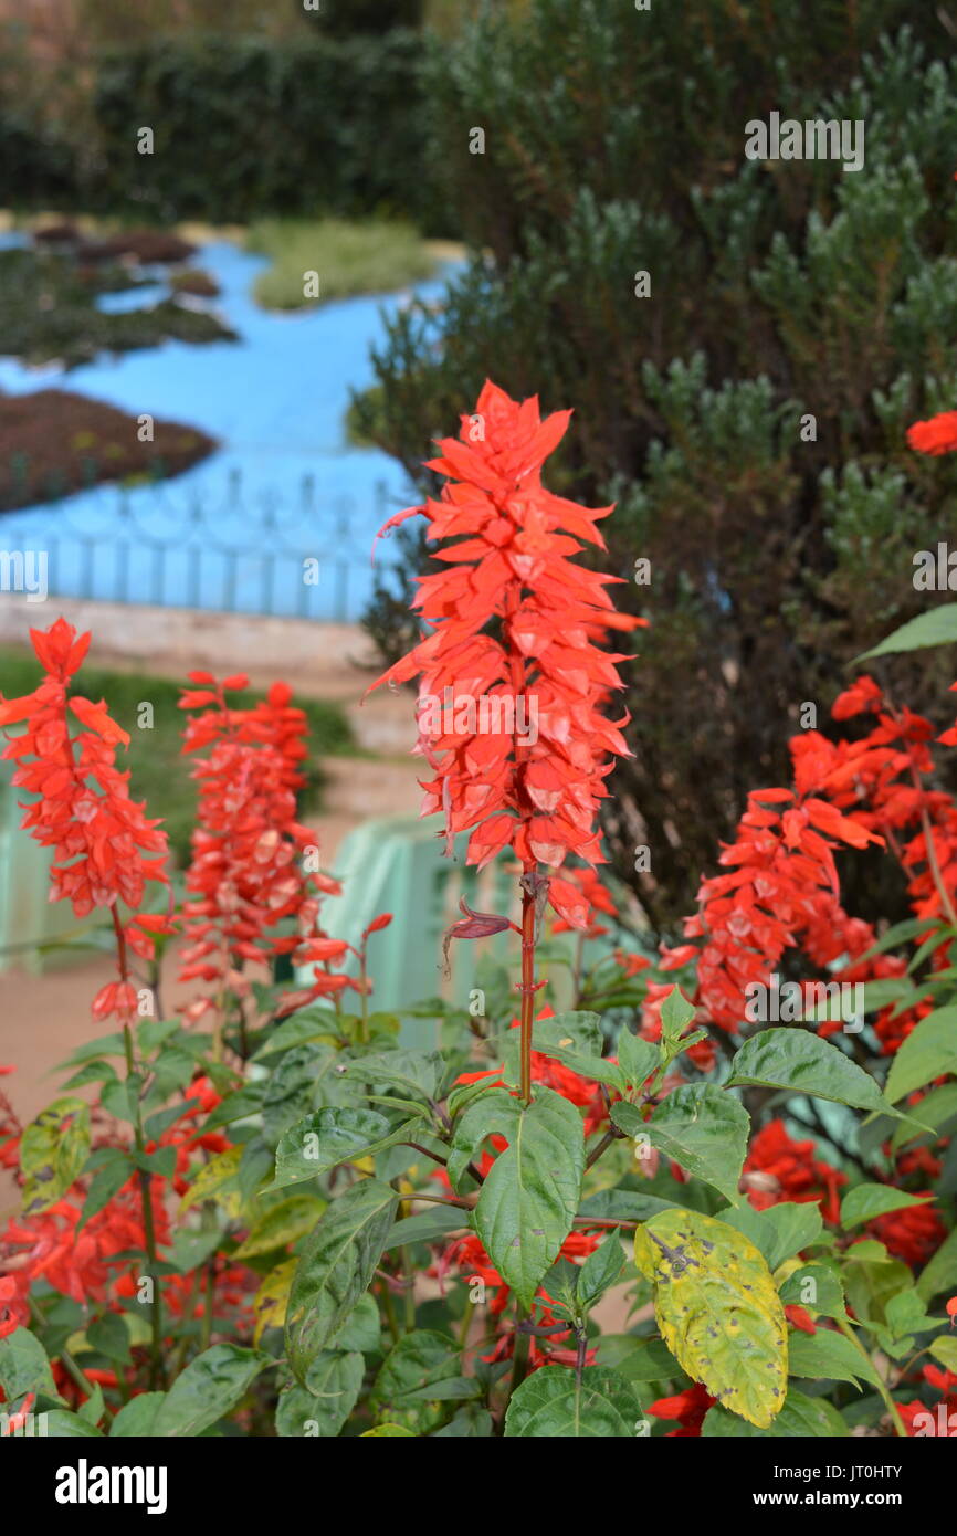
[[(951, 51), (906, 0), (530, 0), (482, 9), (430, 68), (432, 174), (475, 255), (441, 323), (393, 316), (353, 430), (427, 488), (436, 422), (485, 376), (575, 406), (551, 487), (618, 501), (601, 564), (653, 621), (605, 833), (659, 928), (748, 788), (783, 773), (800, 700), (823, 725), (840, 664), (926, 604), (912, 553), (955, 527), (954, 465), (905, 444), (957, 386)], [(773, 109), (863, 120), (865, 169), (747, 160), (747, 121)], [(421, 544), (404, 559), (432, 568)], [(379, 594), (390, 659), (399, 624)], [(897, 685), (939, 719), (945, 664), (906, 665)], [(667, 882), (633, 869), (636, 819)], [(896, 915), (897, 891), (860, 885), (863, 915), (885, 897)]]

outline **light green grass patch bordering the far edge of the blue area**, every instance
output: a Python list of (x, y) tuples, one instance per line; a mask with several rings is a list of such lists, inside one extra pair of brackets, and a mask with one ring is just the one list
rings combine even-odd
[[(438, 257), (412, 224), (392, 220), (266, 218), (252, 224), (249, 250), (272, 258), (253, 295), (266, 309), (307, 309), (358, 293), (393, 293), (435, 273)], [(306, 273), (320, 293), (306, 295)]]

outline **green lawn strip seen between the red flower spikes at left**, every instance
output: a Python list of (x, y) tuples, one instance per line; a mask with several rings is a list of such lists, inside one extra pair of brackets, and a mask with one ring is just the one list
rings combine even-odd
[[(20, 697), (40, 682), (40, 664), (28, 651), (12, 645), (0, 647), (0, 693)], [(184, 711), (177, 708), (180, 685), (169, 677), (143, 673), (117, 673), (100, 667), (83, 667), (77, 691), (88, 699), (106, 699), (112, 717), (129, 731), (129, 750), (117, 753), (117, 766), (129, 768), (131, 794), (146, 800), (151, 816), (163, 817), (174, 860), (180, 868), (189, 863), (189, 834), (195, 820), (197, 786), (189, 777), (192, 762), (180, 756)], [(255, 690), (238, 696), (252, 703), (263, 694)], [(154, 710), (152, 730), (137, 723), (140, 705)], [(356, 751), (349, 720), (336, 703), (320, 699), (296, 699), (309, 722), (309, 760), (301, 809), (315, 811), (321, 805), (326, 774), (318, 765), (323, 756), (349, 756)]]

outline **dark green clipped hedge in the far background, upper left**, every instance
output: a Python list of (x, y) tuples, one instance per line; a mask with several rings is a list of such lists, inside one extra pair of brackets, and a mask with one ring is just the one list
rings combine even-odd
[[(426, 215), (419, 60), (419, 37), (401, 28), (316, 28), (301, 41), (200, 34), (108, 51), (89, 195), (161, 220)], [(138, 123), (155, 126), (152, 155), (137, 154)]]

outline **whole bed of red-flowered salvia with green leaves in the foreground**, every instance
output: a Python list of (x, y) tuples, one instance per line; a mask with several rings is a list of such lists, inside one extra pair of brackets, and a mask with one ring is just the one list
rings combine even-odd
[[(957, 727), (934, 739), (873, 671), (957, 639), (954, 610), (791, 740), (684, 942), (642, 946), (596, 829), (641, 751), (614, 703), (641, 621), (581, 559), (611, 508), (542, 484), (568, 419), (487, 384), (429, 465), (441, 492), (392, 519), (424, 516), (439, 565), (379, 679), (418, 684), (424, 814), (515, 879), (507, 911), (462, 900), (445, 934), (445, 958), (484, 951), (481, 1006), (426, 1000), (436, 1049), (372, 992), (376, 932), (416, 914), (355, 943), (323, 926), (339, 886), (298, 820), (289, 688), (249, 705), (244, 676), (189, 677), (180, 882), (126, 733), (80, 691), (89, 636), (32, 631), (5, 757), (51, 899), (101, 919), (115, 978), (60, 1097), (22, 1124), (0, 1094), (5, 1433), (952, 1433), (957, 806), (935, 770)], [(951, 452), (957, 416), (911, 444)], [(891, 862), (911, 915), (846, 911), (848, 860)]]

